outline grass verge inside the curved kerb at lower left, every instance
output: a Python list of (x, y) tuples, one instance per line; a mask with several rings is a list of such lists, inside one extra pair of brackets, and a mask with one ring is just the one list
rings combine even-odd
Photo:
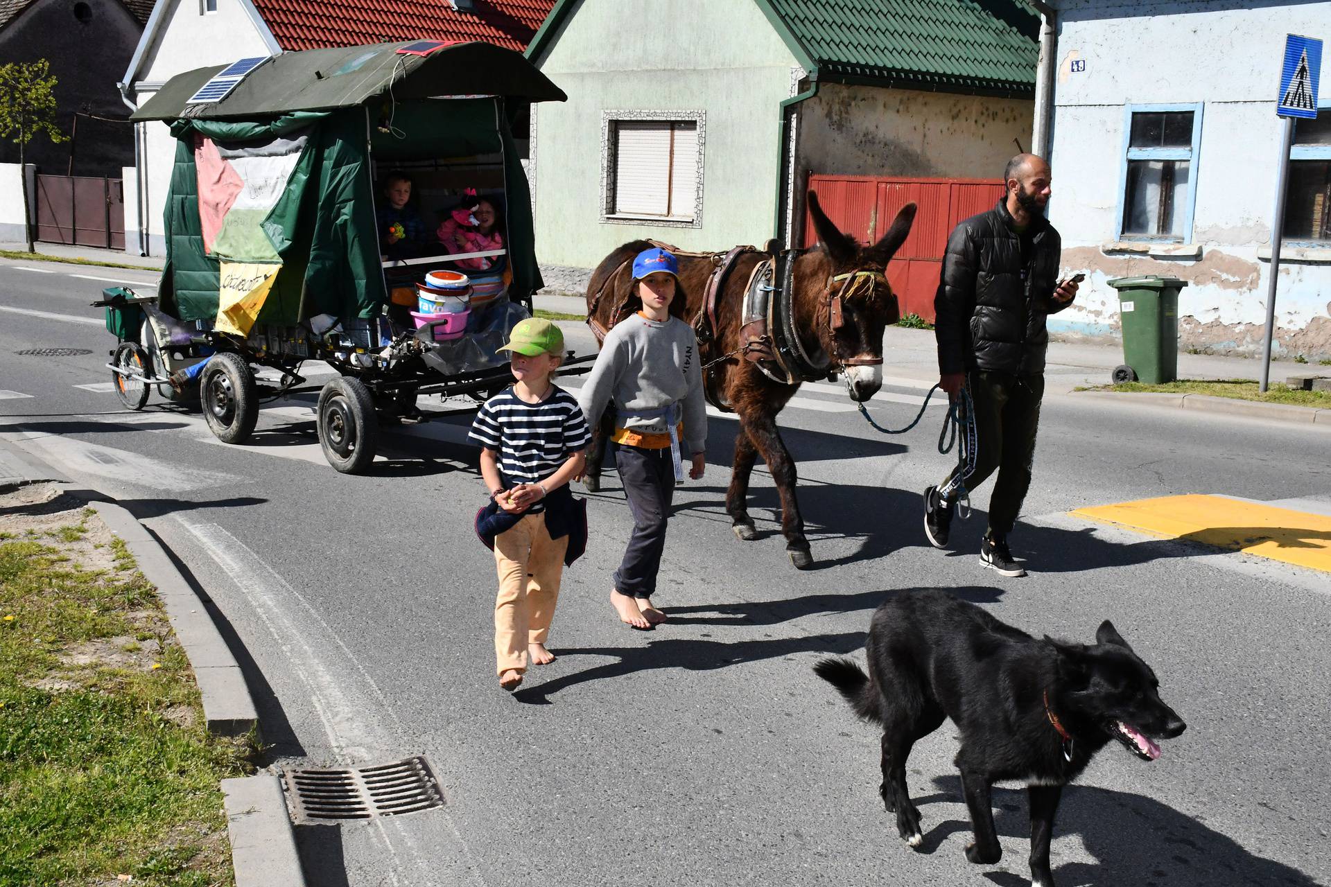
[(0, 884), (233, 884), (218, 781), (254, 745), (208, 733), (124, 543), (37, 489), (0, 497)]

